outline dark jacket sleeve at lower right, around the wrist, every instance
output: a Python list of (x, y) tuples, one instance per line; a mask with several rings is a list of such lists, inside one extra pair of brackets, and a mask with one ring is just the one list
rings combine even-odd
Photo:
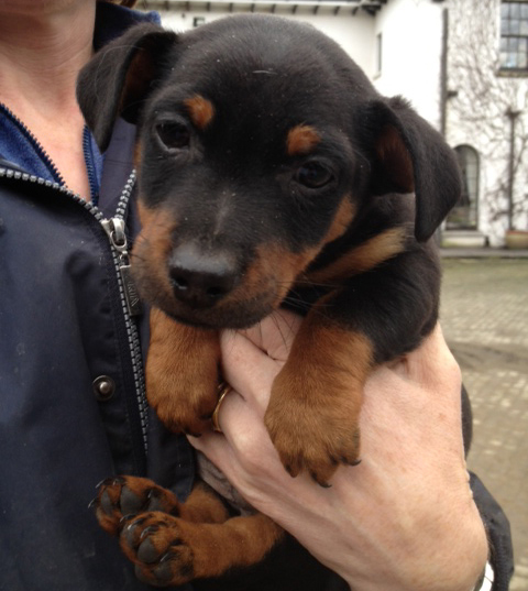
[(493, 591), (507, 591), (514, 573), (514, 549), (509, 522), (479, 477), (470, 473), (473, 497), (487, 530), (490, 561), (494, 570)]

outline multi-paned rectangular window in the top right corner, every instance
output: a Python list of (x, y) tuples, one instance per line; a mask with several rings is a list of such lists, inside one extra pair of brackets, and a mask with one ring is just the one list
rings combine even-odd
[(528, 1), (501, 4), (501, 68), (528, 69)]

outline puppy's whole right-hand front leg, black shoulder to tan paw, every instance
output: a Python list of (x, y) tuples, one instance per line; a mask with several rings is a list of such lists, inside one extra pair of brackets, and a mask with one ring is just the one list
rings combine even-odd
[(351, 277), (310, 310), (265, 415), (293, 475), (307, 470), (326, 485), (339, 463), (358, 462), (366, 379), (432, 330), (439, 277), (436, 259), (417, 249)]

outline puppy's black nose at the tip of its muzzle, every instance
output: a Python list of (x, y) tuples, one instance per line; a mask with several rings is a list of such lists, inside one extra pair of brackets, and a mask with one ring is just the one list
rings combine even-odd
[(195, 308), (212, 306), (237, 283), (237, 260), (231, 253), (204, 253), (194, 243), (177, 247), (168, 261), (174, 295)]

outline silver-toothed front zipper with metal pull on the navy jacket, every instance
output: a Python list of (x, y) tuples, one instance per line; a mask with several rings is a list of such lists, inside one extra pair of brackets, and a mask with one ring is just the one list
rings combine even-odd
[(113, 256), (113, 263), (116, 266), (116, 275), (118, 278), (121, 306), (124, 316), (124, 322), (127, 328), (127, 335), (129, 339), (129, 350), (132, 362), (132, 372), (134, 375), (134, 384), (138, 400), (138, 407), (140, 412), (141, 431), (143, 436), (143, 447), (145, 455), (147, 453), (147, 429), (148, 429), (148, 406), (146, 402), (145, 393), (145, 376), (143, 372), (143, 359), (141, 354), (141, 344), (139, 330), (133, 320), (133, 316), (140, 314), (141, 303), (135, 289), (135, 285), (130, 277), (130, 263), (129, 263), (129, 244), (124, 232), (124, 217), (127, 214), (127, 207), (129, 205), (132, 190), (135, 185), (135, 171), (132, 171), (127, 184), (119, 198), (118, 207), (113, 218), (106, 219), (97, 207), (91, 203), (86, 201), (64, 185), (47, 180), (36, 175), (29, 173), (22, 173), (7, 167), (0, 167), (0, 177), (14, 178), (16, 180), (23, 180), (25, 183), (34, 183), (44, 185), (52, 189), (58, 190), (63, 195), (73, 199), (77, 204), (84, 207), (90, 212), (99, 222), (109, 238), (111, 252)]

